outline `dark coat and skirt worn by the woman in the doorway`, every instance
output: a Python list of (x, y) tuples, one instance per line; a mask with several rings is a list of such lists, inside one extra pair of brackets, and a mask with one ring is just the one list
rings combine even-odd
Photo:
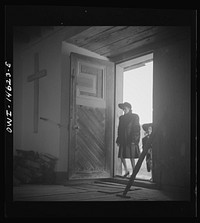
[(122, 158), (138, 158), (134, 156), (135, 151), (132, 151), (131, 144), (136, 145), (139, 150), (140, 141), (140, 124), (139, 116), (132, 112), (119, 117), (118, 136), (116, 143), (119, 145), (119, 157)]

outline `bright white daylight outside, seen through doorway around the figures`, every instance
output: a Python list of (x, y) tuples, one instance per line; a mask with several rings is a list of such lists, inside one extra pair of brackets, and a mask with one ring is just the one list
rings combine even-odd
[[(123, 101), (131, 103), (132, 112), (140, 117), (141, 138), (139, 146), (142, 151), (142, 138), (144, 137), (142, 125), (153, 122), (153, 61), (125, 71), (123, 83)], [(129, 161), (127, 166), (131, 169)], [(151, 172), (147, 171), (145, 159), (136, 178), (143, 180), (152, 178)]]

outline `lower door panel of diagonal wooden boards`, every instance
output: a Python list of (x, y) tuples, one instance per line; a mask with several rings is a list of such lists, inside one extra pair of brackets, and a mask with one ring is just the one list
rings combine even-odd
[(75, 171), (102, 171), (105, 164), (105, 109), (77, 106)]

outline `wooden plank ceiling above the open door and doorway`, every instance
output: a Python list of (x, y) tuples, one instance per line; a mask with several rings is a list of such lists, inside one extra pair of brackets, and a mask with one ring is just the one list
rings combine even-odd
[(67, 42), (109, 58), (155, 42), (165, 42), (182, 28), (173, 26), (94, 26)]

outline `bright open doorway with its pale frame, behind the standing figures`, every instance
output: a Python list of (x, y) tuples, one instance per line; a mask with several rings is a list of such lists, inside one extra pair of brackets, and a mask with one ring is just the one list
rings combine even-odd
[[(142, 125), (153, 123), (153, 53), (120, 63), (116, 71), (117, 116), (123, 114), (117, 106), (121, 102), (129, 102), (132, 105), (132, 112), (139, 115), (141, 127), (139, 147), (142, 152), (142, 138), (146, 135)], [(137, 161), (138, 159), (135, 159), (135, 163)], [(120, 165), (118, 169), (124, 175), (125, 170), (121, 162)], [(132, 173), (129, 159), (127, 159), (127, 167)], [(147, 169), (146, 158), (136, 179), (152, 181), (152, 171)]]

